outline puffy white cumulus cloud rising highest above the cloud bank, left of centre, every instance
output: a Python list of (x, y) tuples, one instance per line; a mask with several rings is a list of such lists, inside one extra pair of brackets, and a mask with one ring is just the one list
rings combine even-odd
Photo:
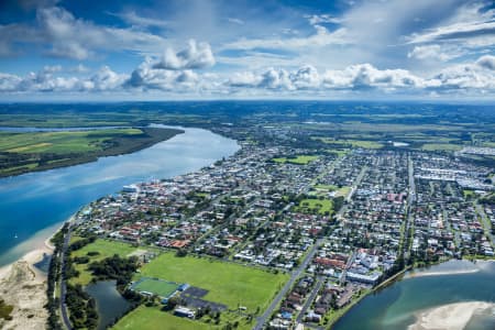
[(166, 70), (198, 69), (215, 65), (213, 53), (208, 43), (197, 44), (190, 40), (188, 47), (178, 53), (167, 48), (162, 59), (153, 65), (153, 68)]

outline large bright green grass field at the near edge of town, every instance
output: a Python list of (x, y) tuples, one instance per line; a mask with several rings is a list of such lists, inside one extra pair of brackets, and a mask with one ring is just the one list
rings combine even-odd
[(204, 299), (229, 308), (237, 308), (240, 304), (248, 307), (248, 312), (257, 307), (263, 310), (288, 279), (286, 274), (209, 258), (176, 257), (174, 253), (164, 253), (144, 265), (136, 279), (141, 276), (166, 278), (207, 289), (209, 293)]

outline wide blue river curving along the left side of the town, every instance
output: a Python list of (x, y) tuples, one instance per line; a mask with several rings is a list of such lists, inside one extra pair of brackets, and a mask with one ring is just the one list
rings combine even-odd
[[(155, 125), (160, 127), (160, 125)], [(200, 129), (184, 129), (145, 150), (97, 162), (0, 179), (0, 266), (43, 244), (84, 205), (122, 186), (198, 170), (240, 146)]]

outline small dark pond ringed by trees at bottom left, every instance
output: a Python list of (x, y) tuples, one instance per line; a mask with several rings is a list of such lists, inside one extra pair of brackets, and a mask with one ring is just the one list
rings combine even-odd
[(98, 311), (98, 330), (105, 330), (131, 308), (116, 288), (116, 280), (102, 280), (86, 286), (85, 292), (95, 298)]

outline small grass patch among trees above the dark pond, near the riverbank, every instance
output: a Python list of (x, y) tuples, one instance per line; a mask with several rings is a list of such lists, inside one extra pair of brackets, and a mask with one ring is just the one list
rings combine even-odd
[[(75, 241), (76, 240), (77, 237), (75, 238)], [(79, 271), (79, 276), (70, 278), (70, 283), (87, 285), (91, 282), (92, 278), (91, 273), (88, 271), (88, 265), (90, 263), (103, 260), (114, 254), (118, 254), (120, 256), (127, 256), (136, 250), (138, 248), (133, 248), (125, 243), (98, 239), (94, 243), (90, 243), (80, 250), (74, 251), (70, 254), (72, 257), (75, 257), (75, 256), (89, 256), (88, 252), (99, 253), (98, 255), (89, 256), (89, 263), (87, 264), (74, 264), (76, 271)]]

